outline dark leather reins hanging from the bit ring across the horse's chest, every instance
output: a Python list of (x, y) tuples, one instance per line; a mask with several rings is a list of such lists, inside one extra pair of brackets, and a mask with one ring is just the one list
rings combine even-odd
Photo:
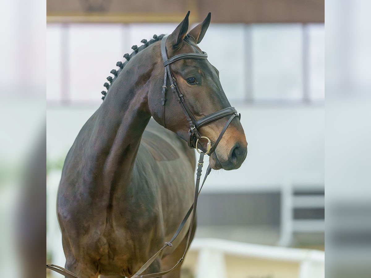
[[(183, 221), (178, 226), (178, 229), (175, 232), (175, 234), (173, 235), (173, 238), (171, 238), (170, 241), (165, 242), (164, 246), (162, 246), (162, 248), (159, 251), (157, 251), (131, 278), (138, 278), (138, 277), (139, 278), (155, 278), (155, 277), (160, 277), (162, 275), (165, 275), (165, 274), (173, 271), (183, 261), (183, 259), (185, 257), (185, 254), (187, 253), (187, 250), (188, 250), (188, 245), (189, 245), (189, 241), (190, 241), (192, 226), (193, 226), (195, 215), (196, 215), (198, 195), (200, 195), (201, 189), (204, 186), (206, 178), (207, 178), (207, 176), (209, 176), (209, 174), (211, 172), (211, 167), (209, 165), (207, 167), (206, 174), (204, 176), (204, 179), (203, 179), (203, 181), (201, 183), (201, 187), (200, 187), (201, 173), (202, 173), (202, 167), (203, 167), (203, 163), (204, 163), (203, 159), (204, 159), (204, 152), (201, 152), (200, 153), (200, 158), (198, 159), (198, 163), (197, 163), (196, 186), (195, 186), (195, 191), (194, 191), (194, 202), (191, 205), (191, 207), (188, 209), (188, 212), (184, 216)], [(184, 227), (185, 223), (187, 222), (189, 216), (191, 215), (192, 211), (193, 211), (193, 214), (192, 214), (192, 218), (191, 218), (191, 224), (190, 224), (190, 227), (188, 229), (187, 244), (185, 245), (184, 253), (183, 253), (183, 256), (180, 258), (180, 260), (174, 265), (174, 267), (172, 267), (171, 269), (168, 269), (167, 271), (141, 275), (141, 273), (143, 271), (145, 271), (152, 264), (152, 262), (161, 254), (162, 250), (164, 250), (168, 246), (170, 246), (170, 247), (173, 246), (171, 243), (175, 240), (175, 238), (177, 238), (180, 231), (183, 229), (183, 227)]]

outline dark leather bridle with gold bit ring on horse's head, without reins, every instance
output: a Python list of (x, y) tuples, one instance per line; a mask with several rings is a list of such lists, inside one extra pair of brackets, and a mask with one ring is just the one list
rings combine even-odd
[[(211, 113), (210, 115), (207, 115), (199, 120), (196, 120), (196, 118), (193, 116), (191, 110), (188, 108), (187, 103), (184, 101), (183, 94), (180, 92), (180, 89), (177, 85), (177, 82), (171, 73), (170, 70), (170, 64), (175, 63), (179, 60), (183, 59), (207, 59), (207, 53), (202, 52), (202, 53), (184, 53), (184, 54), (178, 54), (174, 57), (171, 57), (168, 59), (167, 56), (167, 51), (166, 51), (166, 40), (168, 38), (168, 35), (164, 36), (161, 40), (161, 55), (162, 55), (162, 60), (164, 61), (164, 67), (165, 67), (165, 75), (164, 75), (164, 85), (162, 86), (162, 98), (161, 98), (161, 104), (162, 104), (162, 125), (166, 128), (166, 123), (165, 123), (165, 103), (166, 103), (166, 91), (167, 91), (167, 79), (170, 80), (170, 88), (171, 91), (175, 94), (177, 97), (177, 101), (181, 104), (181, 107), (183, 109), (184, 115), (187, 118), (187, 122), (190, 125), (190, 129), (188, 131), (188, 147), (190, 148), (195, 148), (198, 153), (200, 153), (200, 150), (198, 150), (198, 141), (201, 139), (206, 139), (207, 140), (207, 146), (206, 150), (204, 148), (200, 147), (204, 151), (204, 153), (207, 155), (211, 155), (211, 153), (214, 152), (216, 149), (216, 146), (218, 145), (220, 139), (223, 137), (224, 132), (227, 130), (229, 124), (232, 122), (234, 117), (239, 117), (241, 118), (241, 115), (237, 113), (236, 108), (234, 107), (227, 107), (222, 110), (219, 110), (217, 112)], [(211, 140), (207, 138), (206, 136), (201, 136), (200, 132), (198, 129), (203, 126), (207, 125), (211, 122), (214, 122), (215, 120), (221, 119), (225, 116), (230, 116), (229, 120), (227, 123), (224, 125), (224, 128), (222, 129), (218, 139), (214, 142), (211, 143)]]

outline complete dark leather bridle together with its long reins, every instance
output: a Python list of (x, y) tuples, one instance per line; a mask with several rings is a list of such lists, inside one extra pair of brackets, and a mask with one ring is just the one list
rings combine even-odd
[[(196, 120), (196, 118), (193, 116), (191, 110), (188, 108), (187, 104), (184, 101), (184, 97), (182, 93), (179, 90), (179, 87), (177, 85), (177, 82), (171, 73), (170, 70), (170, 64), (175, 63), (179, 60), (183, 59), (207, 59), (207, 53), (202, 52), (202, 53), (184, 53), (184, 54), (178, 54), (174, 57), (171, 57), (168, 59), (167, 56), (167, 51), (166, 51), (166, 40), (168, 38), (168, 35), (164, 36), (161, 40), (161, 55), (162, 55), (162, 60), (164, 62), (164, 67), (165, 67), (165, 74), (164, 74), (164, 85), (162, 86), (162, 98), (161, 98), (161, 104), (162, 104), (162, 125), (166, 128), (166, 123), (165, 123), (165, 103), (166, 103), (166, 92), (167, 92), (167, 85), (168, 85), (168, 80), (170, 80), (170, 88), (171, 91), (175, 94), (177, 97), (177, 101), (181, 104), (181, 107), (183, 109), (184, 115), (187, 118), (187, 122), (190, 125), (190, 129), (188, 131), (188, 147), (190, 148), (195, 148), (198, 153), (200, 153), (200, 158), (198, 159), (197, 163), (197, 171), (196, 171), (196, 186), (195, 186), (195, 192), (194, 192), (194, 201), (191, 207), (188, 209), (187, 214), (184, 216), (182, 222), (178, 226), (177, 231), (173, 235), (173, 237), (170, 239), (170, 241), (165, 242), (164, 245), (161, 247), (160, 250), (158, 250), (148, 261), (131, 277), (131, 278), (155, 278), (155, 277), (161, 277), (162, 275), (168, 274), (169, 272), (173, 271), (176, 267), (178, 267), (181, 262), (183, 262), (185, 254), (187, 253), (189, 244), (190, 244), (190, 238), (191, 238), (191, 230), (194, 224), (194, 221), (196, 219), (196, 208), (197, 208), (197, 200), (198, 200), (198, 195), (201, 192), (201, 189), (206, 181), (207, 176), (209, 176), (211, 172), (211, 167), (210, 165), (207, 167), (206, 174), (203, 178), (203, 181), (200, 186), (200, 181), (201, 181), (201, 174), (202, 174), (202, 167), (204, 163), (204, 155), (211, 155), (216, 149), (216, 146), (220, 142), (221, 138), (224, 135), (224, 132), (227, 130), (229, 124), (232, 122), (232, 120), (235, 117), (241, 118), (241, 114), (237, 113), (236, 108), (234, 107), (227, 107), (224, 109), (221, 109), (217, 112), (211, 113), (210, 115), (207, 115), (201, 119)], [(230, 116), (230, 118), (227, 120), (226, 124), (224, 125), (224, 128), (221, 130), (219, 137), (217, 140), (212, 143), (209, 138), (206, 136), (201, 136), (200, 132), (198, 129), (203, 126), (207, 125), (211, 122), (214, 122), (215, 120), (221, 119), (223, 117)], [(200, 146), (198, 147), (198, 141), (201, 139), (206, 139), (207, 140), (207, 146), (206, 150)], [(161, 255), (162, 251), (167, 248), (173, 246), (172, 242), (177, 238), (177, 236), (180, 234), (182, 231), (185, 223), (187, 222), (188, 218), (192, 214), (191, 218), (191, 223), (190, 227), (188, 229), (188, 237), (187, 237), (187, 244), (185, 245), (185, 249), (183, 252), (183, 256), (178, 260), (178, 262), (170, 269), (162, 272), (157, 272), (157, 273), (151, 273), (151, 274), (143, 274), (142, 273), (152, 264), (152, 262)], [(62, 275), (65, 275), (68, 278), (79, 278), (77, 275), (73, 274), (72, 272), (68, 271), (65, 268), (59, 267), (57, 265), (46, 265), (46, 268), (52, 269)]]

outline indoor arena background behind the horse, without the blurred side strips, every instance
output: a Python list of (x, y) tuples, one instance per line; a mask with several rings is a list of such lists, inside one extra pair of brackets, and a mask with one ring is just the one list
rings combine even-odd
[[(133, 44), (171, 33), (188, 10), (190, 29), (211, 11), (199, 46), (242, 114), (249, 149), (240, 169), (209, 177), (183, 276), (324, 277), (323, 254), (308, 250), (324, 250), (325, 238), (323, 0), (47, 0), (46, 7), (47, 261), (65, 263), (55, 208), (62, 166), (101, 104), (110, 70)], [(237, 242), (238, 254), (229, 250)]]

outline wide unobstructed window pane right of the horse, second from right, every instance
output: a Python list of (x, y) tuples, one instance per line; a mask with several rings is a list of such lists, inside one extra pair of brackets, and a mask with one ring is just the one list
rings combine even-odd
[(301, 24), (252, 26), (252, 89), (256, 100), (303, 97)]

